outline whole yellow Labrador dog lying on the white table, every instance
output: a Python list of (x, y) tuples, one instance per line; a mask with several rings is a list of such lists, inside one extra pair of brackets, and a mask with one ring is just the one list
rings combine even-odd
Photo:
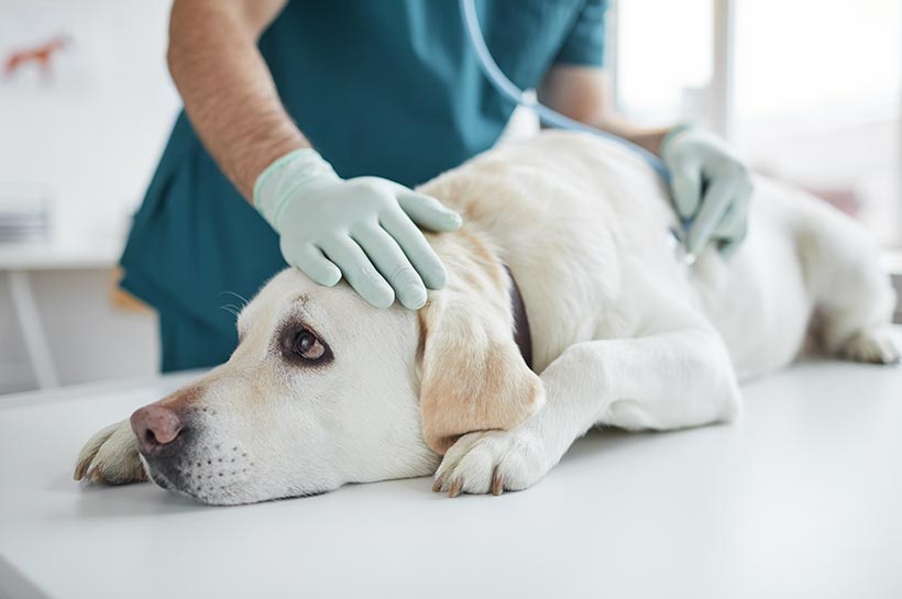
[(501, 146), (420, 190), (465, 223), (430, 235), (448, 286), (425, 308), (378, 310), (285, 270), (242, 311), (228, 363), (99, 432), (75, 477), (150, 477), (215, 504), (432, 474), (452, 497), (499, 493), (595, 425), (728, 421), (737, 380), (812, 339), (899, 358), (878, 248), (799, 190), (758, 179), (746, 243), (693, 267), (659, 178), (591, 136)]

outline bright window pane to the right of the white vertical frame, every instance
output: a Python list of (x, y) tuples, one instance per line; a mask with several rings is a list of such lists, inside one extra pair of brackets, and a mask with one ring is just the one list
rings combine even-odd
[(737, 147), (902, 245), (900, 2), (736, 4)]

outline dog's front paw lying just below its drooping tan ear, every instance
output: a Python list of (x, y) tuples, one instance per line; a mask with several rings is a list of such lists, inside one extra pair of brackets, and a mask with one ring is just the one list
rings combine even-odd
[(432, 490), (449, 497), (518, 491), (538, 482), (551, 466), (544, 443), (532, 432), (470, 433), (444, 454)]

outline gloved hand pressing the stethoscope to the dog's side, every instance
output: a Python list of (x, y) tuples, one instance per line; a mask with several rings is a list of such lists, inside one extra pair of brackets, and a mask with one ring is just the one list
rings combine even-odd
[(724, 142), (701, 129), (680, 125), (661, 142), (676, 212), (690, 221), (686, 253), (697, 256), (710, 241), (730, 255), (745, 240), (751, 177)]

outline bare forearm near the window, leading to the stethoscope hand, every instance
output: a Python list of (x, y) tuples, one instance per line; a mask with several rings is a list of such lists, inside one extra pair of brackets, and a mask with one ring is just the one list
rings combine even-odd
[(539, 101), (658, 154), (668, 129), (631, 125), (613, 110), (607, 74), (598, 67), (554, 65), (539, 86)]

